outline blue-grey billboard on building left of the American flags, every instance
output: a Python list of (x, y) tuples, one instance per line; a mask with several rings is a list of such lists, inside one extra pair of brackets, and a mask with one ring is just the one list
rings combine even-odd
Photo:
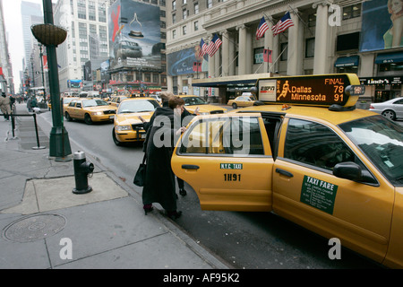
[[(178, 74), (207, 72), (209, 69), (208, 56), (199, 57), (199, 49), (200, 46), (196, 46), (167, 54), (167, 74), (175, 76)], [(195, 68), (196, 63), (199, 63), (201, 67)]]

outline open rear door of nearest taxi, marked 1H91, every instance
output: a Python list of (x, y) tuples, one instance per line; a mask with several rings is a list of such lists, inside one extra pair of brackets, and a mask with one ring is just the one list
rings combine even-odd
[(273, 162), (261, 114), (243, 113), (194, 117), (171, 165), (203, 210), (270, 212)]

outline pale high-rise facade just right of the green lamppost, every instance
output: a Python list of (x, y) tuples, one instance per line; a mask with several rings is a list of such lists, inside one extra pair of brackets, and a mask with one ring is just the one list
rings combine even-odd
[[(80, 91), (85, 65), (91, 59), (107, 60), (107, 8), (111, 0), (59, 0), (54, 7), (55, 24), (67, 30), (56, 49), (60, 91)], [(92, 81), (90, 81), (92, 90)]]

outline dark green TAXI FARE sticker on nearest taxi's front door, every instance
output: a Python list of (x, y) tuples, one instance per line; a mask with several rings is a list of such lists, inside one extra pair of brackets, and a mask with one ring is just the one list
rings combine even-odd
[(304, 176), (300, 201), (322, 212), (333, 214), (338, 186), (318, 178)]

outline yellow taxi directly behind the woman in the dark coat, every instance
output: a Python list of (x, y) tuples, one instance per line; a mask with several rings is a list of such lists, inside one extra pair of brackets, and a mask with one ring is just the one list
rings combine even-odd
[(146, 132), (139, 116), (146, 121), (154, 114), (154, 109), (160, 107), (153, 98), (141, 97), (124, 100), (116, 111), (112, 139), (116, 145), (144, 141)]

